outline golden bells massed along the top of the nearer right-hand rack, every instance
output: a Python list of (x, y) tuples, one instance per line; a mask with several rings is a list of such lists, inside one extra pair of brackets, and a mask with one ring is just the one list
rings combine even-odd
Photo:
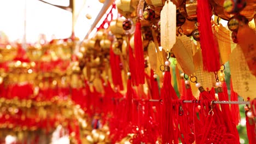
[[(199, 23), (197, 23), (196, 17), (197, 1), (176, 0), (172, 2), (176, 4), (177, 7), (177, 35), (182, 33), (188, 37), (192, 36), (196, 41), (200, 41), (200, 33), (197, 29)], [(218, 19), (215, 19), (214, 21), (219, 23), (220, 19), (227, 20), (228, 28), (232, 31), (232, 40), (234, 43), (237, 43), (237, 30), (240, 25), (248, 25), (249, 21), (252, 21), (255, 13), (255, 4), (250, 0), (211, 0), (210, 2), (212, 14), (218, 16)], [(96, 33), (95, 37), (84, 41), (80, 52), (84, 53), (84, 58), (86, 56), (86, 60), (82, 59), (82, 63), (93, 62), (91, 67), (97, 67), (98, 65), (103, 69), (103, 63), (108, 59), (107, 56), (109, 54), (110, 45), (112, 45), (113, 51), (116, 55), (123, 54), (125, 59), (127, 44), (129, 43), (132, 49), (134, 48), (134, 23), (138, 17), (141, 17), (144, 50), (147, 50), (149, 41), (153, 40), (152, 28), (154, 29), (158, 44), (161, 46), (160, 12), (164, 3), (165, 1), (161, 0), (115, 1), (118, 12), (123, 15), (123, 17), (118, 17), (117, 20), (112, 20), (108, 29), (101, 29)], [(127, 35), (130, 35), (129, 41), (127, 40)], [(104, 56), (106, 56), (106, 58), (104, 58)], [(175, 56), (172, 55), (172, 57)]]

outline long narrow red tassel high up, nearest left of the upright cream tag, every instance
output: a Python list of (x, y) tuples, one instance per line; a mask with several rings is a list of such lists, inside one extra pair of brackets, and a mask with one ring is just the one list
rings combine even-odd
[[(135, 48), (135, 65), (136, 65), (136, 75), (138, 84), (144, 84), (144, 52), (141, 38), (141, 22), (136, 23), (136, 29), (134, 33), (134, 48)], [(134, 63), (134, 62), (133, 62)]]

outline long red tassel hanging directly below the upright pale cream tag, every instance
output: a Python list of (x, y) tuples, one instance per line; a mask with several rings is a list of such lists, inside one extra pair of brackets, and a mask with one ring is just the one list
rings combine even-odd
[[(172, 99), (178, 99), (174, 88), (171, 85), (171, 73), (170, 67), (166, 67), (164, 82), (161, 88), (161, 97), (163, 100), (162, 111), (162, 143), (172, 143), (174, 140), (173, 134), (173, 107)], [(175, 143), (175, 142), (174, 142)]]

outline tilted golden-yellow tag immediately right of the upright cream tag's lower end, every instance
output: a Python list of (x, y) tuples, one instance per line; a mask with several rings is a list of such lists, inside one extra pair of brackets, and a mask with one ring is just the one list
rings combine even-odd
[(177, 62), (181, 65), (183, 72), (187, 75), (193, 75), (195, 72), (192, 52), (188, 53), (187, 49), (184, 47), (181, 39), (177, 39), (173, 46), (172, 52), (174, 53)]

